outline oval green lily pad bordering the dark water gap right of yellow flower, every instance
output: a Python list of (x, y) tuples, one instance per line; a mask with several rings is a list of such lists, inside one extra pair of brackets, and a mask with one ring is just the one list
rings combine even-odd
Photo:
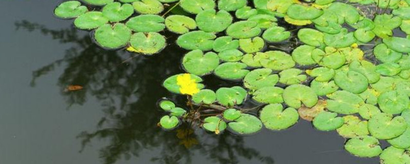
[(248, 74), (247, 65), (239, 62), (222, 63), (215, 69), (215, 75), (224, 79), (241, 79)]

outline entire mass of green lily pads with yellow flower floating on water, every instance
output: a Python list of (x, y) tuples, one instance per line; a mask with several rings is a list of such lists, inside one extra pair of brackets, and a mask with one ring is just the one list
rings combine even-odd
[[(55, 9), (108, 49), (155, 54), (167, 45), (163, 30), (180, 34), (187, 73), (163, 86), (187, 105), (159, 101), (164, 129), (189, 122), (246, 135), (288, 129), (301, 117), (349, 138), (348, 152), (385, 164), (410, 162), (409, 13), (410, 2), (399, 0), (88, 0)], [(210, 74), (243, 86), (206, 89)], [(382, 150), (380, 139), (391, 147)]]

